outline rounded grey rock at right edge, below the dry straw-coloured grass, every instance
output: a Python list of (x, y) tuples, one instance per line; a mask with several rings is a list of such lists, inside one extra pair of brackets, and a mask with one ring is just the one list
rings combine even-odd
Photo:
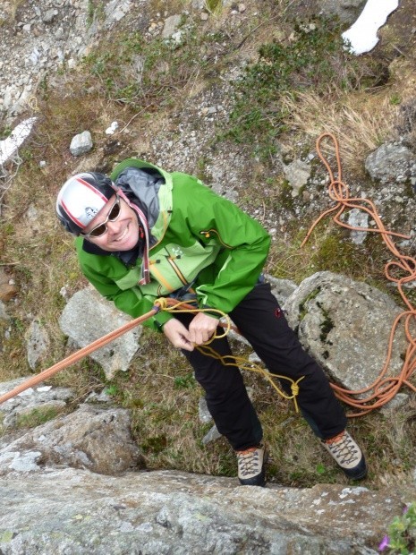
[(387, 143), (369, 154), (365, 168), (381, 183), (401, 183), (416, 177), (416, 157), (402, 144)]

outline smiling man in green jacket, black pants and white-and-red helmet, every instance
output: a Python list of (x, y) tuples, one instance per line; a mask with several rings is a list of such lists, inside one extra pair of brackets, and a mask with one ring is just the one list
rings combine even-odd
[[(259, 223), (200, 180), (136, 158), (106, 175), (73, 175), (60, 190), (57, 216), (73, 235), (83, 274), (133, 318), (161, 296), (196, 300), (229, 315), (267, 369), (299, 380), (301, 414), (351, 479), (367, 474), (345, 430), (344, 409), (318, 364), (302, 349), (262, 276), (270, 239)], [(182, 349), (206, 392), (217, 430), (237, 457), (243, 485), (265, 485), (267, 448), (241, 372), (195, 348), (217, 329), (216, 313), (157, 312), (145, 322)], [(226, 337), (210, 346), (231, 355)], [(282, 388), (291, 390), (282, 380)]]

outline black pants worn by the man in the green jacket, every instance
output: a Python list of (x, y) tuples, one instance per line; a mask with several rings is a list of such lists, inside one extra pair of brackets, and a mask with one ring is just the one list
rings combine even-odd
[[(297, 400), (315, 434), (327, 439), (343, 431), (346, 418), (342, 406), (320, 366), (303, 350), (289, 328), (270, 286), (266, 283), (255, 286), (229, 316), (268, 371), (295, 381), (304, 376), (299, 383)], [(182, 313), (175, 317), (185, 325), (192, 319), (191, 315)], [(226, 337), (215, 339), (210, 346), (221, 355), (232, 354)], [(218, 431), (237, 450), (259, 444), (263, 435), (261, 424), (238, 368), (225, 367), (197, 349), (183, 350), (183, 354), (191, 363), (196, 380), (205, 389), (208, 410)], [(291, 395), (290, 382), (282, 380), (281, 385)]]

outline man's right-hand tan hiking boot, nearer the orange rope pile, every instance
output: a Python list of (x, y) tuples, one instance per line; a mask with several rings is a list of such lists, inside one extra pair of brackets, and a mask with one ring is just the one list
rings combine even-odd
[(366, 477), (367, 465), (364, 455), (348, 431), (344, 430), (330, 440), (322, 440), (322, 445), (348, 478), (361, 480)]

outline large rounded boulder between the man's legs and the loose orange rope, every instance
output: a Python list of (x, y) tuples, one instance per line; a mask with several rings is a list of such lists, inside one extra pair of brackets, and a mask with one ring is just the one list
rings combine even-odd
[[(306, 278), (284, 308), (302, 345), (332, 380), (352, 390), (378, 377), (391, 326), (403, 312), (378, 289), (331, 272)], [(404, 337), (396, 337), (390, 375), (402, 368), (405, 347)]]

